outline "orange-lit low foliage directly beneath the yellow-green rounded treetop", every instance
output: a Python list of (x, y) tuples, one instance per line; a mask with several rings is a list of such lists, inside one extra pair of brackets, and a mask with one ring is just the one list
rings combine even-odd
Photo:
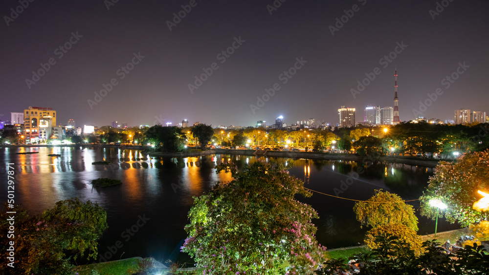
[(379, 225), (376, 228), (371, 229), (365, 235), (365, 244), (372, 250), (378, 248), (376, 243), (377, 236), (387, 237), (389, 235), (399, 238), (401, 241), (409, 245), (409, 248), (414, 251), (416, 255), (422, 253), (422, 240), (416, 231), (411, 228), (400, 224), (391, 223), (385, 225)]

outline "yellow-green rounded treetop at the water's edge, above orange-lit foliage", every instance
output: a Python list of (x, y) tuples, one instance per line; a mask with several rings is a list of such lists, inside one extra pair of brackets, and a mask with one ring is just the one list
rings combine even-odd
[(402, 198), (388, 191), (376, 190), (367, 202), (357, 202), (353, 210), (356, 219), (362, 225), (376, 228), (388, 224), (403, 224), (417, 231), (418, 218), (411, 205), (407, 205)]

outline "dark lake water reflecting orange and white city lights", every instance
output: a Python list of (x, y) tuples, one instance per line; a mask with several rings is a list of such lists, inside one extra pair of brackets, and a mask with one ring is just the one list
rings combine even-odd
[[(36, 154), (16, 154), (38, 151)], [(61, 154), (49, 157), (48, 154)], [(208, 155), (188, 158), (149, 158), (138, 150), (117, 148), (1, 148), (0, 159), (14, 163), (15, 202), (31, 214), (53, 208), (59, 200), (78, 197), (98, 203), (107, 211), (109, 229), (99, 241), (100, 258), (115, 260), (132, 256), (153, 256), (158, 260), (192, 262), (180, 253), (186, 238), (184, 226), (192, 207), (193, 196), (199, 196), (218, 181), (229, 181), (229, 174), (216, 174), (215, 166), (222, 161), (243, 167), (258, 159), (275, 163), (293, 163), (290, 173), (302, 179), (305, 187), (340, 197), (366, 200), (374, 190), (383, 189), (399, 194), (404, 200), (417, 199), (426, 187), (432, 168), (403, 164), (362, 166), (352, 161), (325, 161), (290, 158), (266, 158), (244, 155)], [(139, 159), (139, 160), (138, 160)], [(92, 165), (94, 161), (115, 161), (117, 165)], [(0, 199), (7, 199), (6, 169), (0, 171)], [(107, 188), (93, 188), (90, 181), (112, 178), (123, 182)], [(347, 183), (350, 183), (347, 184)], [(342, 191), (341, 193), (339, 191)], [(366, 229), (360, 229), (353, 206), (355, 201), (314, 193), (298, 198), (311, 204), (320, 218), (316, 237), (328, 248), (357, 245)], [(415, 209), (419, 202), (410, 202)], [(418, 211), (417, 211), (418, 212)], [(420, 217), (420, 234), (433, 233), (434, 221)], [(444, 219), (438, 231), (455, 229)], [(119, 247), (117, 247), (118, 245)]]

